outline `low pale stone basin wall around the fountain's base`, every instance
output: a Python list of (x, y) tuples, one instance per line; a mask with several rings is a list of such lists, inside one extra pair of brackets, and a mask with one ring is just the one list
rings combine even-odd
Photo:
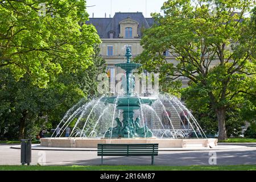
[(199, 148), (216, 147), (217, 139), (160, 139), (160, 138), (41, 138), (40, 145), (46, 147), (70, 147), (70, 148), (97, 148), (98, 143), (106, 144), (136, 144), (158, 143), (159, 148)]

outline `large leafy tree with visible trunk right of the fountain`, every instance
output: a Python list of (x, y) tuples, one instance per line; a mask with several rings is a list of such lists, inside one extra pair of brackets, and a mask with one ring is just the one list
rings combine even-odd
[[(152, 14), (154, 26), (143, 32), (144, 51), (137, 59), (168, 78), (189, 78), (187, 99), (214, 112), (220, 140), (227, 139), (229, 108), (251, 94), (255, 80), (255, 34), (245, 16), (253, 5), (253, 0), (167, 1), (164, 15)], [(166, 50), (174, 63), (163, 56)]]

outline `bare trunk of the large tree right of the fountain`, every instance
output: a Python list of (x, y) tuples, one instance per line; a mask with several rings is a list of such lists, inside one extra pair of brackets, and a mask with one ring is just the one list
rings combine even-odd
[(216, 109), (217, 120), (218, 120), (218, 140), (226, 140), (226, 125), (225, 125), (225, 109)]

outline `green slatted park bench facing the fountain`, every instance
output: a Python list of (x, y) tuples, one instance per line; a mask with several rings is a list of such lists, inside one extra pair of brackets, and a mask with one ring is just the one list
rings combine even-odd
[(98, 144), (98, 156), (151, 156), (151, 164), (158, 155), (158, 143), (142, 144)]

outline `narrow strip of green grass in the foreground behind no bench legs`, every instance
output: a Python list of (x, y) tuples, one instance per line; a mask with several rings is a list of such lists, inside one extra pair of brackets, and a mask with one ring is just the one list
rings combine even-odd
[(256, 171), (256, 165), (234, 166), (0, 166), (0, 171)]

